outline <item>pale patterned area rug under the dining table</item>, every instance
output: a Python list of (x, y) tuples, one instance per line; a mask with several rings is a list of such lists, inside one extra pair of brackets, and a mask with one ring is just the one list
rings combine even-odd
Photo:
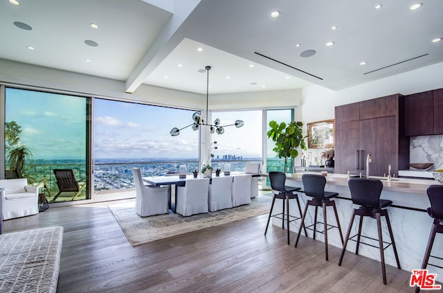
[(198, 231), (269, 213), (272, 195), (262, 194), (251, 204), (221, 211), (183, 217), (178, 213), (140, 217), (135, 211), (135, 201), (108, 206), (132, 247), (156, 240)]

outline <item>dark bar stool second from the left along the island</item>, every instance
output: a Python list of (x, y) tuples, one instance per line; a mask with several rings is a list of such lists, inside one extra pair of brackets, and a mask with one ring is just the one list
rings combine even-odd
[[(328, 260), (327, 230), (332, 228), (338, 228), (338, 233), (340, 233), (340, 238), (341, 238), (341, 244), (343, 245), (343, 234), (341, 233), (340, 220), (338, 220), (337, 208), (335, 206), (334, 200), (330, 200), (332, 197), (337, 197), (338, 193), (331, 193), (329, 191), (325, 191), (326, 178), (323, 175), (303, 174), (302, 183), (303, 183), (303, 188), (305, 188), (305, 195), (312, 197), (312, 199), (307, 199), (305, 211), (303, 212), (302, 216), (302, 224), (300, 224), (300, 229), (298, 229), (296, 247), (298, 245), (298, 239), (300, 238), (300, 231), (302, 230), (302, 227), (314, 231), (314, 236), (313, 236), (314, 240), (316, 239), (316, 232), (323, 233), (325, 234), (325, 254), (327, 261)], [(305, 217), (307, 215), (307, 208), (309, 206), (316, 207), (314, 215), (314, 224), (305, 227)], [(317, 221), (318, 206), (321, 206), (323, 208), (323, 223)], [(327, 224), (327, 214), (326, 214), (327, 206), (332, 206), (334, 208), (334, 214), (337, 226)], [(323, 224), (323, 231), (317, 231), (317, 223)], [(312, 226), (314, 226), (314, 229), (311, 229)]]

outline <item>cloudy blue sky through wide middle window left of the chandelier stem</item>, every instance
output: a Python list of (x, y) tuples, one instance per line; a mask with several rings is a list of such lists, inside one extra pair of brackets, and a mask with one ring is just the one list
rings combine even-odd
[(199, 132), (187, 128), (171, 136), (173, 127), (191, 124), (193, 111), (96, 99), (96, 159), (198, 158)]

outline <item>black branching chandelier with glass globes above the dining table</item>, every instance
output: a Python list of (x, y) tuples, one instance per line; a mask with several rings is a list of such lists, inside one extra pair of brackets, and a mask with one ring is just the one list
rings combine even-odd
[(172, 130), (170, 131), (170, 134), (172, 136), (179, 135), (180, 130), (184, 130), (185, 128), (190, 127), (190, 126), (192, 126), (192, 130), (199, 130), (200, 126), (209, 126), (210, 127), (209, 130), (210, 130), (211, 134), (213, 134), (214, 132), (217, 132), (217, 134), (224, 134), (224, 127), (235, 125), (235, 127), (239, 128), (244, 125), (244, 122), (242, 120), (236, 120), (234, 124), (220, 125), (219, 118), (215, 119), (214, 124), (208, 124), (208, 98), (209, 98), (210, 66), (206, 66), (205, 69), (206, 69), (206, 74), (207, 74), (207, 78), (206, 78), (206, 123), (205, 123), (204, 119), (201, 118), (200, 112), (195, 112), (194, 114), (192, 114), (192, 120), (194, 121), (194, 123), (187, 125), (187, 126), (180, 128), (180, 129), (177, 127), (172, 128)]

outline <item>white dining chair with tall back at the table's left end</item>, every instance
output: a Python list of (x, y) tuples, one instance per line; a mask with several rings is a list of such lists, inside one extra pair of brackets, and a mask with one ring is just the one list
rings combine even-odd
[(145, 186), (140, 168), (132, 168), (136, 186), (136, 213), (141, 217), (168, 213), (168, 187)]

